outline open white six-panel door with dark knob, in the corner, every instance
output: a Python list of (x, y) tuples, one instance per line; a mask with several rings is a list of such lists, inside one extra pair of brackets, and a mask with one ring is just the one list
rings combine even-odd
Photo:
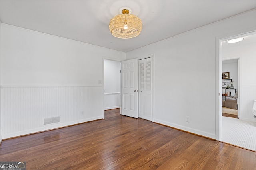
[(121, 62), (121, 114), (138, 118), (138, 60)]

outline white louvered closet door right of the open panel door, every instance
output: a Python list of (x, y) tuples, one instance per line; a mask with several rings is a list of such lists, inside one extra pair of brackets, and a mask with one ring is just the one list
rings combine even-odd
[(152, 121), (152, 57), (139, 60), (139, 117)]

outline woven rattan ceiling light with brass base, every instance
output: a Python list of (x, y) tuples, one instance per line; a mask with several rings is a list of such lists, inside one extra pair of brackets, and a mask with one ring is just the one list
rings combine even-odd
[(110, 20), (109, 30), (114, 37), (128, 39), (140, 34), (142, 22), (140, 18), (129, 14), (129, 10), (122, 10), (122, 14), (114, 16)]

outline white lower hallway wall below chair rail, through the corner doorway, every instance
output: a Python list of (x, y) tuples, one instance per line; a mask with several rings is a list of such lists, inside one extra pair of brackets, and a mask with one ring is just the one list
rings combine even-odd
[(104, 94), (105, 110), (120, 108), (121, 106), (121, 93), (105, 93)]

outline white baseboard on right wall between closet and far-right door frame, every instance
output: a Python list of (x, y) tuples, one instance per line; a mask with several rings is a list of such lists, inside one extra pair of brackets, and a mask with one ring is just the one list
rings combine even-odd
[(154, 123), (160, 123), (162, 125), (166, 125), (166, 126), (169, 126), (169, 127), (174, 127), (176, 129), (180, 129), (182, 131), (187, 131), (187, 132), (194, 133), (194, 134), (197, 134), (197, 135), (200, 135), (200, 136), (208, 137), (208, 138), (211, 138), (211, 139), (216, 139), (216, 135), (213, 134), (213, 133), (208, 133), (208, 132), (200, 131), (200, 130), (197, 130), (197, 129), (192, 129), (190, 127), (177, 125), (177, 124), (174, 124), (174, 123), (169, 123), (169, 122), (158, 120), (158, 119), (154, 119)]

